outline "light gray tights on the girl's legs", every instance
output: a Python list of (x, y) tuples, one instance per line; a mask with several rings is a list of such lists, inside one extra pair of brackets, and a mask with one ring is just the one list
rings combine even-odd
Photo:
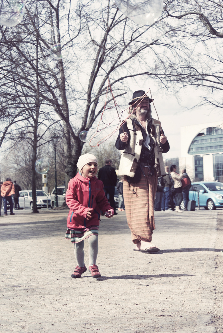
[[(96, 259), (98, 255), (98, 236), (89, 236), (88, 244), (89, 266), (96, 265)], [(78, 266), (84, 267), (84, 240), (79, 243), (74, 243), (74, 255)]]

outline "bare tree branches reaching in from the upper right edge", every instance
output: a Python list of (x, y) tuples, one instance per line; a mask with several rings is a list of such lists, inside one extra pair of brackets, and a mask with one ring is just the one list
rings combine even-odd
[(223, 108), (222, 2), (167, 0), (164, 13), (166, 22), (171, 18), (174, 27), (166, 37), (170, 36), (169, 41), (178, 52), (163, 62), (156, 78), (175, 93), (192, 86), (200, 92), (199, 105)]

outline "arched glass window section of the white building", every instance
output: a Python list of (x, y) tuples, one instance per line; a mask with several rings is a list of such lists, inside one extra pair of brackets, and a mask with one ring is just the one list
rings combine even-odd
[(192, 141), (188, 154), (210, 154), (223, 151), (223, 130), (219, 127), (208, 127)]

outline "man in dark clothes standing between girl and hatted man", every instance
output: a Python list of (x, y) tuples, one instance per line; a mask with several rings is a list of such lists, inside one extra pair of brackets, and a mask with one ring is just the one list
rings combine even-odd
[(114, 210), (114, 215), (117, 215), (116, 213), (116, 207), (115, 207), (115, 186), (117, 183), (117, 174), (115, 172), (115, 168), (112, 165), (112, 160), (107, 159), (105, 161), (105, 166), (101, 167), (98, 172), (98, 179), (103, 181), (104, 184), (104, 192), (105, 196), (109, 194), (109, 202)]

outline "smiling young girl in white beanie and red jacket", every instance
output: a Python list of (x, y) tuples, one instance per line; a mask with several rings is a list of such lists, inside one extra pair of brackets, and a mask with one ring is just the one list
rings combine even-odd
[(72, 277), (81, 277), (87, 268), (84, 264), (84, 239), (89, 244), (89, 271), (92, 277), (100, 277), (96, 259), (98, 254), (98, 226), (100, 209), (106, 217), (112, 217), (114, 210), (103, 191), (103, 182), (96, 178), (98, 161), (94, 155), (85, 154), (77, 162), (79, 173), (69, 181), (66, 203), (70, 208), (67, 218), (66, 238), (74, 243), (77, 266)]

